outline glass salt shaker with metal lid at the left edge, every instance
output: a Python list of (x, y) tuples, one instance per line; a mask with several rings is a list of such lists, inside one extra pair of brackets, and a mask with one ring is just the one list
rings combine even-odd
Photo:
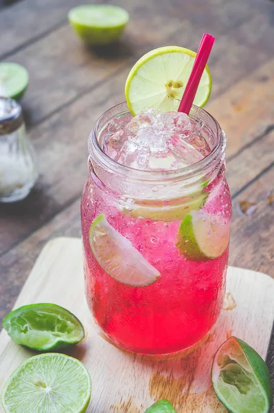
[(25, 132), (22, 109), (0, 97), (0, 202), (22, 200), (38, 178), (34, 148)]

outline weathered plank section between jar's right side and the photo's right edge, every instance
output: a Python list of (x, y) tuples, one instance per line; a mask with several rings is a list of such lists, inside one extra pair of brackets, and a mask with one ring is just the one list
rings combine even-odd
[[(229, 263), (262, 271), (274, 278), (274, 167), (233, 199)], [(255, 204), (251, 216), (241, 213), (239, 202)]]

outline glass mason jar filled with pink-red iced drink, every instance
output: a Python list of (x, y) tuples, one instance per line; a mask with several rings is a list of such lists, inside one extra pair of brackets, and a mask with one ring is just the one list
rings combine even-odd
[(126, 103), (117, 105), (89, 136), (81, 203), (87, 302), (116, 346), (170, 354), (205, 337), (222, 308), (231, 222), (226, 138), (193, 105), (190, 119), (209, 153), (181, 169), (141, 171), (104, 151), (104, 135), (130, 118)]

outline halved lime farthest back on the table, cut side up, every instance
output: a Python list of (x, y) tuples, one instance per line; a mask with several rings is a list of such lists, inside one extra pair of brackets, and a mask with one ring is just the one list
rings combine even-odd
[(80, 38), (91, 45), (113, 43), (122, 36), (129, 15), (109, 4), (89, 4), (69, 10), (69, 23)]

